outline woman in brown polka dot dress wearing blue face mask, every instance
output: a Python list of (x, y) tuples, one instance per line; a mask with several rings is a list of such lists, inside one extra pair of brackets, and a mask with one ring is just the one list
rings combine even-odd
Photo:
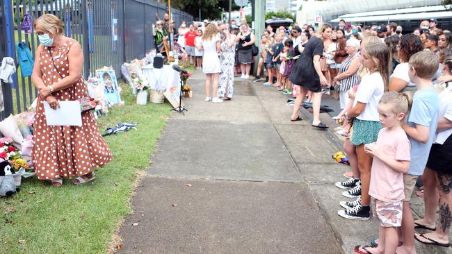
[(41, 42), (36, 51), (32, 81), (39, 91), (31, 160), (40, 180), (60, 187), (63, 178), (82, 185), (95, 178), (92, 170), (111, 161), (111, 152), (99, 135), (92, 112), (81, 113), (82, 126), (47, 126), (44, 101), (59, 108), (58, 101), (88, 96), (81, 77), (83, 53), (79, 42), (65, 37), (58, 17), (46, 14), (35, 20)]

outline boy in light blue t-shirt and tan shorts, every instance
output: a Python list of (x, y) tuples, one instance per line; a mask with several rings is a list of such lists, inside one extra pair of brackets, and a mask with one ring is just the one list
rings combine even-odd
[(403, 129), (411, 142), (410, 170), (404, 174), (405, 199), (403, 200), (403, 217), (401, 233), (403, 245), (397, 253), (416, 253), (414, 248), (414, 219), (410, 210), (410, 198), (416, 180), (425, 169), (430, 148), (435, 139), (438, 115), (439, 97), (431, 79), (438, 69), (435, 53), (420, 51), (410, 58), (410, 81), (417, 85), (414, 93), (410, 117)]

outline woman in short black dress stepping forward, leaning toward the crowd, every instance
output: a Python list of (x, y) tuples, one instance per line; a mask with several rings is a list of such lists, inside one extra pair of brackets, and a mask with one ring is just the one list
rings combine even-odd
[(298, 110), (300, 110), (300, 105), (307, 92), (311, 91), (313, 96), (312, 110), (314, 112), (312, 126), (321, 129), (328, 128), (328, 126), (320, 121), (322, 87), (327, 85), (326, 78), (323, 76), (320, 66), (320, 58), (323, 56), (323, 40), (321, 38), (330, 37), (331, 31), (331, 26), (327, 23), (318, 29), (318, 36), (311, 37), (305, 44), (304, 50), (293, 66), (293, 71), (289, 76), (289, 80), (293, 85), (300, 86), (300, 95), (297, 97), (295, 105), (293, 105), (291, 121), (302, 120), (298, 115)]

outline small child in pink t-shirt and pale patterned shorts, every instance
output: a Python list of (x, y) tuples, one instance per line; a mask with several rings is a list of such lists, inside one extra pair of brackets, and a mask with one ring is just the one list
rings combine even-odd
[(403, 173), (410, 168), (410, 141), (402, 128), (411, 104), (409, 92), (387, 92), (378, 103), (380, 123), (376, 143), (366, 144), (364, 152), (373, 156), (369, 194), (372, 214), (380, 222), (378, 246), (355, 246), (356, 253), (396, 253), (396, 228), (402, 224)]

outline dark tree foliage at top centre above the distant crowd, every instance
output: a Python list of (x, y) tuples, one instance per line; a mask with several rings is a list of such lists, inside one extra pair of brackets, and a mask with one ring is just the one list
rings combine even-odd
[[(168, 4), (168, 0), (165, 0), (165, 3)], [(221, 12), (229, 10), (229, 0), (173, 0), (171, 7), (187, 12), (193, 19), (199, 17), (200, 10), (202, 19), (220, 19)], [(232, 1), (232, 10), (239, 9)]]

